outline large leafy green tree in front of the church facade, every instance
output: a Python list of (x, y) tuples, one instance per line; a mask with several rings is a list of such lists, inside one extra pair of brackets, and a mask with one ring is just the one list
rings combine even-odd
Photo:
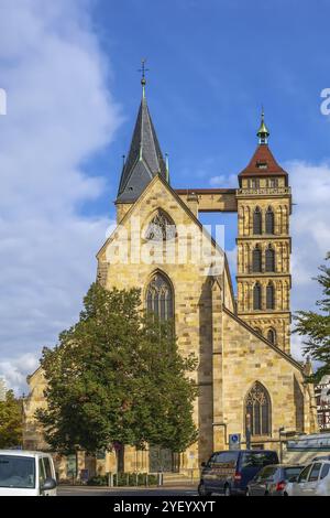
[(57, 451), (95, 453), (120, 442), (183, 451), (197, 439), (193, 357), (178, 354), (173, 326), (140, 310), (139, 290), (90, 287), (80, 319), (44, 348), (48, 408), (36, 416)]

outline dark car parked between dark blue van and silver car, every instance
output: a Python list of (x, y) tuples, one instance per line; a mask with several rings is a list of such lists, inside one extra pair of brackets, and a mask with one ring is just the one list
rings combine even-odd
[(287, 496), (289, 479), (299, 476), (304, 466), (274, 464), (263, 467), (248, 484), (246, 496)]

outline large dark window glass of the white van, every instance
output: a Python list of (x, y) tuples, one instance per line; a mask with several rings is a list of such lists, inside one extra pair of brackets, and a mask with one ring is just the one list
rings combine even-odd
[(33, 489), (35, 487), (34, 458), (0, 455), (0, 487)]

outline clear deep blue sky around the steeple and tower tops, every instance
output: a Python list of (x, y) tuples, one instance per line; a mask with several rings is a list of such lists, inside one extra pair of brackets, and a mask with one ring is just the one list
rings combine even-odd
[(127, 118), (101, 165), (112, 196), (140, 101), (143, 56), (174, 185), (204, 186), (238, 173), (255, 148), (262, 104), (282, 162), (327, 159), (329, 121), (319, 107), (329, 83), (329, 15), (326, 1), (317, 8), (282, 0), (97, 2), (95, 29)]

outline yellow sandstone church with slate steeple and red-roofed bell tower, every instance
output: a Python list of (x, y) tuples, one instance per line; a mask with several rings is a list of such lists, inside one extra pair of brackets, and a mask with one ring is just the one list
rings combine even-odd
[[(140, 288), (141, 309), (173, 319), (183, 355), (194, 353), (199, 387), (194, 418), (198, 441), (172, 455), (125, 446), (101, 458), (78, 456), (78, 471), (198, 471), (212, 451), (228, 449), (230, 434), (246, 447), (279, 449), (287, 433), (318, 430), (312, 387), (290, 355), (292, 193), (287, 173), (268, 147), (262, 116), (258, 144), (238, 175), (238, 188), (175, 190), (169, 182), (143, 97), (116, 201), (118, 227), (97, 255), (105, 288)], [(237, 298), (224, 251), (202, 228), (201, 212), (238, 213)], [(46, 406), (45, 380), (29, 378), (25, 447), (46, 447), (34, 420)], [(58, 457), (65, 476), (65, 460)]]

